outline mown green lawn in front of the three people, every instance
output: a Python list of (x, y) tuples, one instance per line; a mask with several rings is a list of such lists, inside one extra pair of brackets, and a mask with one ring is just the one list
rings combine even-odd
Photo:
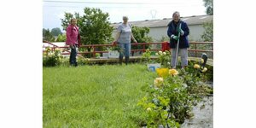
[(140, 64), (43, 68), (43, 125), (139, 127), (142, 87), (156, 73)]

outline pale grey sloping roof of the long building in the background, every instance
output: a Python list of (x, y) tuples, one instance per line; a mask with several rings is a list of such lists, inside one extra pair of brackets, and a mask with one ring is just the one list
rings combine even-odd
[[(181, 17), (181, 20), (185, 21), (188, 25), (201, 25), (206, 21), (212, 20), (213, 15), (193, 15), (188, 17)], [(164, 18), (162, 20), (138, 20), (129, 21), (132, 26), (139, 27), (166, 27), (172, 18)], [(121, 22), (113, 23), (113, 27), (117, 28)]]

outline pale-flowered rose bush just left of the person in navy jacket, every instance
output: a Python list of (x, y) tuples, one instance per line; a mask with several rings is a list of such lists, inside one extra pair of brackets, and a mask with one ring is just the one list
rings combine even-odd
[(158, 53), (155, 53), (155, 55), (157, 55), (156, 61), (161, 64), (161, 67), (171, 67), (170, 51), (159, 51)]

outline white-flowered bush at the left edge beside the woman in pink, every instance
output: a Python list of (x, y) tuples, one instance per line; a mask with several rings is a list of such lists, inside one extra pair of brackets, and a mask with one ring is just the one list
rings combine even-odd
[(61, 65), (61, 59), (63, 58), (63, 55), (61, 55), (61, 49), (51, 51), (51, 49), (47, 47), (45, 51), (46, 52), (43, 55), (44, 67), (55, 67)]

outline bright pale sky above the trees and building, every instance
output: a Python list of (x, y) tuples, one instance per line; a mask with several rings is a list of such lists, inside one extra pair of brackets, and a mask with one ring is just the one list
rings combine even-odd
[(109, 14), (110, 22), (122, 21), (127, 15), (130, 21), (172, 18), (174, 11), (181, 16), (206, 15), (203, 0), (43, 0), (43, 28), (61, 27), (64, 13), (78, 12), (84, 15), (84, 8), (102, 9)]

